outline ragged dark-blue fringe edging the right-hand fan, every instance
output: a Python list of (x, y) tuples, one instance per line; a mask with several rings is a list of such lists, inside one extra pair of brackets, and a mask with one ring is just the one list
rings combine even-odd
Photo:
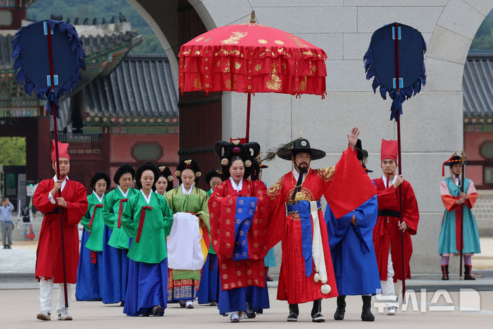
[[(425, 39), (423, 38), (422, 38), (422, 45), (423, 45), (423, 52), (426, 52), (427, 45)], [(396, 95), (397, 90), (395, 88), (388, 88), (387, 86), (382, 84), (382, 82), (377, 77), (377, 74), (375, 73), (375, 62), (373, 62), (373, 51), (371, 47), (371, 42), (370, 42), (370, 46), (368, 47), (368, 50), (366, 51), (363, 57), (363, 61), (364, 61), (365, 72), (366, 72), (366, 80), (370, 80), (373, 77), (373, 82), (372, 82), (373, 93), (377, 93), (377, 88), (379, 88), (380, 95), (383, 99), (387, 99), (387, 93), (388, 93), (390, 98), (393, 99), (392, 106), (390, 107), (390, 120), (399, 119), (401, 117), (401, 114), (403, 113), (402, 103), (406, 99), (409, 99), (413, 95), (419, 93), (421, 91), (422, 86), (425, 86), (426, 84), (425, 62), (423, 62), (422, 64), (422, 69), (418, 76), (418, 80), (416, 80), (414, 84), (407, 86), (406, 88), (400, 89), (399, 97), (397, 97), (398, 96)]]

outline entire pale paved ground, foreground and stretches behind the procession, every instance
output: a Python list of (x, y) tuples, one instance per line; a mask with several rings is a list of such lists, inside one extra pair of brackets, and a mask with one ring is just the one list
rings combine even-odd
[[(71, 304), (74, 321), (42, 322), (36, 319), (38, 312), (38, 282), (34, 280), (37, 241), (23, 241), (23, 232), (14, 235), (13, 249), (0, 249), (0, 328), (217, 328), (231, 326), (229, 319), (220, 317), (216, 307), (196, 306), (186, 310), (171, 304), (164, 317), (135, 318), (122, 313), (123, 308), (104, 305), (101, 302), (76, 302)], [(37, 236), (38, 234), (36, 234)], [(244, 319), (240, 326), (249, 328), (278, 328), (279, 326), (399, 326), (399, 328), (489, 328), (493, 318), (493, 238), (481, 238), (483, 253), (473, 258), (478, 278), (475, 281), (441, 281), (437, 274), (414, 275), (415, 280), (407, 280), (407, 310), (399, 310), (398, 315), (388, 316), (379, 313), (379, 301), (373, 303), (376, 321), (362, 324), (360, 320), (362, 301), (359, 296), (347, 297), (346, 319), (333, 320), (336, 300), (323, 301), (323, 314), (326, 324), (312, 324), (309, 317), (311, 304), (300, 306), (300, 324), (287, 324), (286, 302), (275, 299), (277, 282), (269, 282), (270, 309), (256, 319)], [(451, 278), (458, 275), (451, 273)], [(275, 278), (275, 276), (274, 276)], [(418, 279), (418, 280), (416, 280)], [(422, 290), (424, 289), (424, 290)], [(460, 289), (469, 289), (460, 291)], [(413, 293), (412, 291), (416, 291)], [(438, 293), (436, 292), (438, 291)], [(442, 293), (440, 293), (442, 291)], [(56, 293), (54, 294), (56, 296)], [(55, 304), (55, 303), (53, 303)], [(460, 310), (460, 307), (472, 310)], [(437, 310), (437, 307), (442, 310)], [(448, 307), (444, 310), (443, 307)], [(55, 317), (53, 317), (55, 319)], [(98, 328), (98, 329), (99, 329)]]

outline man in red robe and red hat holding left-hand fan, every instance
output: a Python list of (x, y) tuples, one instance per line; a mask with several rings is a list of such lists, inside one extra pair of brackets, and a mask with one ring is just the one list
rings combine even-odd
[[(87, 191), (84, 186), (68, 179), (70, 156), (68, 144), (58, 143), (60, 178), (55, 175), (49, 180), (42, 180), (33, 197), (34, 206), (45, 214), (36, 252), (36, 279), (40, 282), (41, 310), (37, 318), (51, 319), (51, 302), (53, 300), (53, 284), (60, 284), (58, 289), (58, 306), (56, 311), (59, 320), (71, 320), (68, 308), (64, 307), (64, 276), (62, 243), (60, 228), (60, 211), (63, 216), (64, 247), (66, 260), (67, 300), (72, 297), (72, 284), (77, 280), (77, 264), (79, 263), (79, 233), (77, 224), (88, 208)], [(55, 141), (51, 145), (51, 162), (55, 170)], [(58, 191), (62, 191), (59, 197)]]

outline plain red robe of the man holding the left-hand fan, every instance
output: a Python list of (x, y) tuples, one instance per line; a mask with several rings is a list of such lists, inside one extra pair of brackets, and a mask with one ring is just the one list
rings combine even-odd
[[(53, 178), (42, 180), (33, 197), (34, 206), (43, 214), (41, 232), (36, 251), (36, 279), (41, 277), (53, 279), (53, 283), (63, 283), (62, 243), (60, 233), (60, 214), (50, 213), (57, 206), (52, 204), (48, 193), (55, 186)], [(55, 196), (58, 197), (58, 192)], [(64, 242), (67, 283), (77, 281), (77, 265), (79, 264), (79, 232), (77, 224), (86, 214), (88, 208), (87, 191), (84, 186), (74, 180), (67, 180), (62, 191), (67, 203), (63, 209)]]

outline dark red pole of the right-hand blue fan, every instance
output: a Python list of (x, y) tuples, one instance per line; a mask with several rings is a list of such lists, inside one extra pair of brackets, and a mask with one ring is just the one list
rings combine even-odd
[[(399, 93), (401, 92), (399, 84), (399, 24), (395, 23), (395, 60), (396, 60), (396, 96), (401, 97)], [(402, 155), (401, 155), (401, 115), (397, 114), (397, 147), (399, 150), (399, 175), (402, 174)], [(403, 191), (402, 184), (399, 185), (399, 223), (403, 222)], [(402, 282), (403, 282), (403, 302), (405, 300), (405, 257), (404, 257), (404, 231), (401, 230), (401, 263), (402, 263)]]

